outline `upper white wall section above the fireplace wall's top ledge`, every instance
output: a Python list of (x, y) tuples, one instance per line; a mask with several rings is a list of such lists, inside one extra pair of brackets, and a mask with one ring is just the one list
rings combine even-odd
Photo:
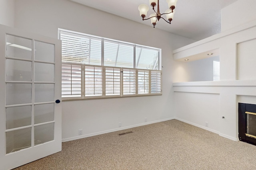
[(238, 0), (221, 10), (221, 31), (256, 20), (256, 1)]

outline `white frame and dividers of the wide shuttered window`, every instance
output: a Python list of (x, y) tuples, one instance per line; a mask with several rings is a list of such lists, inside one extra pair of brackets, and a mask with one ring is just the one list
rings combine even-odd
[[(78, 36), (85, 36), (86, 38), (95, 38), (95, 39), (101, 39), (101, 65), (95, 65), (95, 64), (86, 64), (86, 63), (72, 63), (72, 62), (62, 62), (63, 64), (67, 64), (67, 65), (79, 65), (81, 66), (81, 96), (77, 97), (77, 96), (69, 96), (69, 97), (62, 97), (63, 101), (69, 101), (69, 100), (88, 100), (88, 99), (103, 99), (103, 98), (123, 98), (123, 97), (135, 97), (135, 96), (156, 96), (156, 95), (162, 95), (162, 70), (161, 70), (161, 49), (158, 48), (154, 48), (154, 47), (148, 47), (148, 46), (144, 46), (144, 45), (138, 45), (138, 44), (134, 44), (134, 43), (128, 43), (128, 42), (124, 42), (124, 41), (118, 41), (118, 40), (114, 40), (114, 39), (108, 39), (108, 38), (104, 38), (104, 37), (98, 37), (98, 36), (94, 36), (94, 35), (88, 35), (88, 34), (84, 34), (84, 33), (79, 33), (76, 31), (70, 31), (70, 30), (66, 30), (66, 29), (58, 29), (58, 37), (60, 39), (60, 35), (62, 32), (65, 33), (71, 33), (71, 34), (77, 34)], [(128, 46), (133, 46), (133, 67), (132, 68), (127, 68), (127, 67), (117, 67), (117, 66), (104, 66), (104, 41), (107, 42), (113, 42), (116, 44), (122, 44), (122, 45), (128, 45)], [(150, 50), (157, 50), (158, 51), (158, 57), (155, 60), (157, 62), (158, 65), (158, 70), (150, 70), (150, 69), (142, 69), (142, 68), (135, 68), (136, 67), (136, 48), (142, 48), (142, 49), (150, 49)], [(89, 45), (90, 48), (90, 45)], [(90, 53), (90, 52), (89, 52)], [(156, 56), (156, 55), (155, 55)], [(89, 57), (90, 58), (90, 57)], [(152, 65), (151, 65), (152, 66)], [(154, 65), (154, 68), (156, 66), (156, 63)], [(92, 96), (86, 96), (86, 71), (85, 68), (86, 67), (100, 67), (102, 68), (102, 94), (100, 96), (98, 95), (92, 95)], [(106, 69), (119, 69), (120, 70), (120, 74), (119, 74), (119, 84), (120, 84), (120, 94), (118, 95), (108, 95), (106, 94)], [(124, 70), (135, 70), (135, 94), (124, 94)], [(147, 93), (141, 93), (139, 94), (139, 74), (138, 72), (144, 70), (148, 72), (148, 92)], [(151, 72), (160, 72), (160, 92), (157, 91), (152, 92), (152, 80), (151, 80)], [(72, 73), (71, 73), (72, 74)], [(95, 74), (94, 74), (95, 76)], [(70, 77), (72, 79), (72, 77)], [(72, 80), (70, 80), (72, 81)], [(95, 88), (95, 84), (94, 84), (94, 88)], [(95, 91), (95, 90), (94, 90)], [(71, 93), (72, 93), (72, 87), (71, 87)]]

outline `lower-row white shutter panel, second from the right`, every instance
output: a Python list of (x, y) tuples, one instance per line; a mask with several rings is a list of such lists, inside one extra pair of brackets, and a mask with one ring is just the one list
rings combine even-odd
[(149, 70), (138, 70), (138, 94), (149, 94)]

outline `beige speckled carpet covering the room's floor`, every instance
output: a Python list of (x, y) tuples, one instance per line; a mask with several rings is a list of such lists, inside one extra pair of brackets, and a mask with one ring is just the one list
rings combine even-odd
[(170, 120), (62, 143), (16, 170), (256, 170), (256, 146)]

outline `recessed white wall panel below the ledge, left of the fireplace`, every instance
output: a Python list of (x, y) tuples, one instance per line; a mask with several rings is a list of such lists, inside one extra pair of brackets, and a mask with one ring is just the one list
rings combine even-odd
[(219, 126), (216, 122), (220, 112), (219, 94), (175, 92), (174, 97), (175, 106), (178, 106), (175, 107), (176, 119), (218, 133)]

